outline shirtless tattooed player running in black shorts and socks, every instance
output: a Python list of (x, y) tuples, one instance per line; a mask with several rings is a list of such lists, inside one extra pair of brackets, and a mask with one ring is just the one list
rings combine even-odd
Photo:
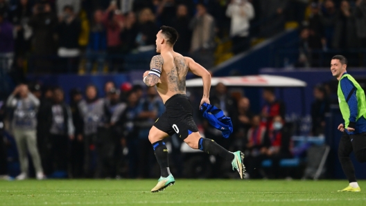
[(162, 191), (175, 180), (169, 171), (168, 149), (164, 138), (177, 133), (189, 147), (200, 149), (214, 156), (220, 156), (232, 162), (233, 169), (237, 169), (241, 178), (244, 176), (244, 155), (241, 151), (234, 153), (227, 151), (214, 140), (202, 138), (193, 122), (193, 108), (186, 97), (186, 75), (191, 71), (202, 77), (203, 97), (200, 102), (209, 104), (211, 76), (209, 72), (189, 57), (175, 53), (173, 46), (177, 41), (177, 30), (162, 26), (157, 33), (156, 50), (160, 55), (151, 59), (150, 71), (143, 73), (143, 82), (147, 86), (157, 86), (157, 92), (165, 104), (166, 111), (157, 119), (150, 129), (148, 139), (153, 145), (154, 153), (159, 162), (162, 176), (152, 192)]

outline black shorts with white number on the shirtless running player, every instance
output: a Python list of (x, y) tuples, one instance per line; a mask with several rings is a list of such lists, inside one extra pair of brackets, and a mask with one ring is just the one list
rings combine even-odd
[(193, 108), (186, 95), (173, 95), (165, 102), (165, 109), (154, 124), (157, 129), (170, 136), (177, 133), (182, 140), (198, 131), (193, 121)]

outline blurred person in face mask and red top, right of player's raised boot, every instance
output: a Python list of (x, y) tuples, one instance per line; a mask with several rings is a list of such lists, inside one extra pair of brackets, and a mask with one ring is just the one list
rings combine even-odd
[(269, 176), (273, 178), (280, 177), (279, 162), (284, 158), (291, 158), (290, 137), (291, 131), (288, 124), (285, 124), (280, 115), (273, 118), (272, 124), (268, 129), (268, 138), (270, 147), (266, 151), (266, 156), (272, 160)]

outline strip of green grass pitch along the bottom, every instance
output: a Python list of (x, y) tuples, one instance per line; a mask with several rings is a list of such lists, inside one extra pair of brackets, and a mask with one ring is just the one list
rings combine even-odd
[[(180, 180), (152, 194), (157, 180), (0, 180), (0, 205), (366, 205), (342, 181)], [(366, 181), (360, 181), (360, 186)]]

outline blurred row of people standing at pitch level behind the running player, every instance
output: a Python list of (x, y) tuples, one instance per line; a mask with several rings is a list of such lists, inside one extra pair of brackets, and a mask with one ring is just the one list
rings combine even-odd
[[(12, 170), (13, 176), (14, 171), (20, 170), (18, 180), (30, 176), (39, 179), (158, 176), (159, 167), (148, 140), (150, 128), (164, 112), (156, 89), (139, 84), (132, 86), (128, 82), (121, 86), (106, 82), (104, 92), (105, 97), (99, 98), (92, 84), (85, 92), (75, 88), (69, 91), (70, 103), (67, 104), (60, 87), (17, 86), (8, 100), (1, 102), (0, 176), (8, 177), (7, 169)], [(193, 94), (188, 92), (187, 95), (193, 106), (198, 106)], [(324, 86), (314, 88), (314, 97), (312, 135), (322, 135), (331, 100)], [(202, 135), (230, 151), (245, 152), (247, 177), (285, 178), (288, 173), (281, 173), (279, 161), (293, 156), (294, 129), (285, 120), (285, 105), (277, 99), (275, 90), (263, 89), (261, 113), (252, 111), (247, 97), (230, 93), (221, 83), (214, 88), (210, 100), (232, 118), (234, 133), (230, 138), (223, 138), (197, 111), (194, 118)], [(167, 144), (171, 145), (169, 160), (176, 176), (237, 177), (220, 159), (202, 161), (202, 157), (209, 156), (186, 153), (182, 140), (175, 135), (167, 139)], [(28, 152), (33, 167), (28, 167)], [(268, 159), (272, 160), (272, 167), (262, 168), (262, 161)], [(16, 162), (19, 168), (9, 167)], [(203, 166), (202, 162), (210, 163)], [(202, 171), (196, 171), (199, 167)]]

